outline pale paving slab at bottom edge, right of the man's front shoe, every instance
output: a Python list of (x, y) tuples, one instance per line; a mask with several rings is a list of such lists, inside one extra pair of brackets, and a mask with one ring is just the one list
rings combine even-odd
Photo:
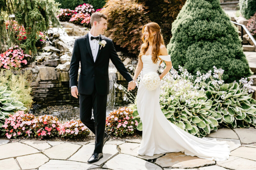
[(161, 167), (135, 156), (118, 154), (109, 160), (103, 168), (109, 169), (162, 169)]

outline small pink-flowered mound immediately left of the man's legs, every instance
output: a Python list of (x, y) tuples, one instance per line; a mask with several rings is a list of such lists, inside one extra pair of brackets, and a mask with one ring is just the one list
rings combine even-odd
[(60, 124), (59, 135), (61, 137), (87, 137), (89, 134), (89, 129), (80, 120), (70, 120)]

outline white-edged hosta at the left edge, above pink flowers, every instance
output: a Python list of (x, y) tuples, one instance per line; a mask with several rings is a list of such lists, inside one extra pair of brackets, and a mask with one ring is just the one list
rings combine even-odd
[(23, 103), (11, 98), (12, 91), (6, 90), (7, 87), (0, 86), (0, 127), (2, 127), (6, 118), (9, 118), (10, 114), (15, 113), (18, 110), (26, 110)]

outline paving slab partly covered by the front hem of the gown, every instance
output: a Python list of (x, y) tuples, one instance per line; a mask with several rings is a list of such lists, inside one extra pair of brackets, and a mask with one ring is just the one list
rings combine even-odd
[(164, 154), (154, 154), (154, 156), (139, 155), (137, 154), (137, 151), (140, 148), (139, 143), (123, 143), (122, 145), (119, 145), (119, 147), (121, 149), (121, 153), (136, 156), (138, 158), (142, 158), (146, 160), (159, 158), (160, 156), (164, 155)]

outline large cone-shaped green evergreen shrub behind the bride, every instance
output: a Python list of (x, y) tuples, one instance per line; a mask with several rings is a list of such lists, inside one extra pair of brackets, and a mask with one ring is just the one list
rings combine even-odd
[(178, 65), (195, 75), (213, 66), (225, 70), (223, 80), (233, 82), (251, 75), (238, 29), (219, 0), (188, 0), (172, 24), (167, 45), (174, 69)]

